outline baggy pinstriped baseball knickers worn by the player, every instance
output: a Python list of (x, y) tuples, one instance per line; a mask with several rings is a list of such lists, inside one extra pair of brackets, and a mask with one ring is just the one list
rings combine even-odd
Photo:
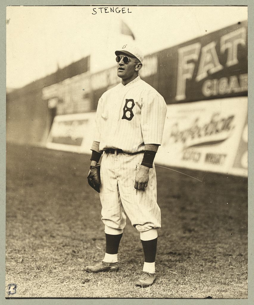
[[(134, 188), (144, 153), (104, 153), (101, 161), (102, 221), (107, 234), (121, 234), (126, 216), (139, 232), (161, 227), (160, 208), (157, 204), (155, 166), (149, 169), (145, 190)], [(125, 212), (125, 213), (124, 213)]]

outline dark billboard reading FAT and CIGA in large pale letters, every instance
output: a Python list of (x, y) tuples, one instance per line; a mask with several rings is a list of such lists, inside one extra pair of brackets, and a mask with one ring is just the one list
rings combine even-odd
[(158, 52), (167, 104), (247, 95), (247, 21)]

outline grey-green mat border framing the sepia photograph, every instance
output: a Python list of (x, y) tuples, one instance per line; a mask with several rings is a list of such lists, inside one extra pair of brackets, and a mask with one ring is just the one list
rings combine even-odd
[[(110, 4), (109, 4), (110, 3)], [(253, 37), (253, 2), (244, 1), (244, 0), (224, 0), (224, 1), (214, 1), (214, 0), (178, 0), (178, 1), (67, 1), (67, 0), (5, 0), (0, 3), (0, 22), (1, 22), (1, 47), (0, 47), (0, 55), (1, 55), (1, 81), (0, 81), (0, 141), (1, 141), (1, 159), (0, 159), (0, 173), (1, 173), (1, 188), (0, 188), (0, 196), (1, 196), (1, 213), (0, 213), (0, 246), (1, 246), (1, 255), (0, 255), (0, 300), (2, 304), (7, 304), (10, 302), (10, 299), (5, 299), (5, 153), (6, 153), (6, 145), (5, 145), (5, 101), (6, 101), (6, 6), (9, 5), (30, 5), (30, 6), (38, 6), (38, 5), (248, 5), (248, 41), (254, 41)], [(253, 52), (253, 43), (248, 44), (248, 52), (249, 54), (254, 54)], [(253, 84), (253, 66), (254, 59), (253, 56), (249, 56), (248, 58), (248, 80), (249, 84)], [(248, 90), (249, 101), (253, 101), (253, 85), (249, 87)], [(249, 139), (253, 139), (253, 104), (249, 102), (249, 116), (248, 116), (248, 125), (249, 125)], [(249, 141), (249, 151), (248, 158), (249, 160), (253, 160), (253, 141)], [(253, 186), (254, 186), (254, 172), (253, 172), (253, 163), (249, 162), (248, 166), (248, 233), (249, 233), (249, 242), (248, 242), (248, 299), (85, 299), (85, 298), (11, 298), (14, 299), (11, 302), (15, 304), (156, 304), (156, 305), (164, 305), (164, 304), (232, 304), (232, 305), (241, 305), (241, 304), (252, 304), (254, 303), (253, 298), (253, 274), (254, 274), (254, 266), (253, 266)]]

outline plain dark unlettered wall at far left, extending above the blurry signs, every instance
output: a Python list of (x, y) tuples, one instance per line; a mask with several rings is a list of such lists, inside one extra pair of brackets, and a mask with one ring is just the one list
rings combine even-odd
[[(85, 73), (89, 73), (89, 56), (6, 94), (6, 141), (45, 146), (57, 107), (43, 99), (43, 88)], [(57, 94), (52, 98), (61, 102)]]

